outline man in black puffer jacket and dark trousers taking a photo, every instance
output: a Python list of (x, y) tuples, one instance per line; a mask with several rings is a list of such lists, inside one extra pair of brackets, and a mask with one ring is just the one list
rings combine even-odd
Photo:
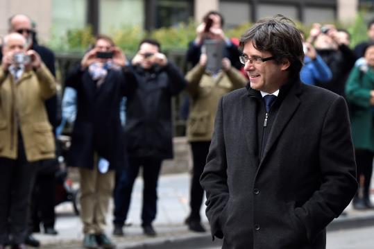
[(142, 40), (131, 64), (136, 87), (126, 95), (124, 128), (129, 166), (117, 175), (113, 234), (124, 235), (133, 184), (142, 167), (142, 227), (144, 234), (155, 236), (158, 177), (162, 160), (173, 157), (171, 98), (185, 88), (186, 81), (155, 40)]

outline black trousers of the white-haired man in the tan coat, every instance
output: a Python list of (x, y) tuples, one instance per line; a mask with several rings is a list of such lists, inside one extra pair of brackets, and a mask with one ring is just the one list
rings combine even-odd
[(17, 150), (17, 160), (0, 157), (0, 245), (24, 243), (28, 232), (36, 166), (26, 160), (21, 135)]

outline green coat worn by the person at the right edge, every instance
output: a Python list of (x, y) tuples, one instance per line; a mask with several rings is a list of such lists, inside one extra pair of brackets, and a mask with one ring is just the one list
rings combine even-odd
[(374, 89), (374, 71), (355, 67), (346, 83), (346, 100), (350, 104), (350, 123), (355, 148), (374, 151), (373, 106), (370, 91)]

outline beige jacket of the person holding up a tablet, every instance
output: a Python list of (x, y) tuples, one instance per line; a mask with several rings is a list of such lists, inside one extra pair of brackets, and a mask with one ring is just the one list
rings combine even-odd
[(246, 78), (234, 67), (213, 78), (205, 68), (196, 65), (186, 75), (190, 96), (187, 119), (189, 141), (210, 141), (214, 130), (214, 117), (219, 99), (232, 90), (244, 87)]

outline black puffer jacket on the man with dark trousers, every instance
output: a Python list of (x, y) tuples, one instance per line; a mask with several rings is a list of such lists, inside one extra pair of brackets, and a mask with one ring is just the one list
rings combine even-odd
[(134, 67), (137, 87), (126, 102), (125, 141), (130, 157), (173, 157), (171, 97), (185, 88), (186, 81), (170, 62), (164, 68)]

